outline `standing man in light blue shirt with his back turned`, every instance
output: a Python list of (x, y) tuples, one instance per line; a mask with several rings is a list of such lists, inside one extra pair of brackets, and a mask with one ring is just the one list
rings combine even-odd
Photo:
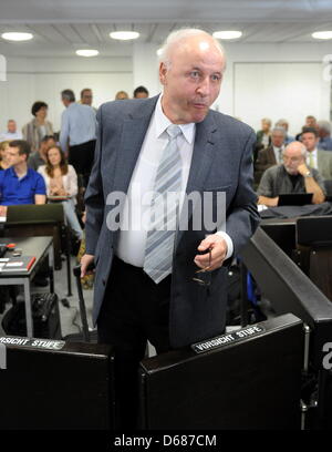
[(95, 113), (90, 105), (75, 102), (72, 90), (62, 91), (61, 99), (66, 109), (61, 116), (60, 146), (86, 186), (94, 160)]

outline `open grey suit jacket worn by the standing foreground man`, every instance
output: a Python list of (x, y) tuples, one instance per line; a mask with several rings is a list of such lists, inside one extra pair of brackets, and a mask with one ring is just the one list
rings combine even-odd
[[(95, 256), (93, 319), (97, 321), (118, 232), (106, 226), (106, 204), (114, 191), (127, 193), (133, 171), (156, 105), (157, 96), (147, 100), (115, 101), (103, 104), (97, 113), (98, 134), (95, 162), (85, 195), (87, 218), (86, 253)], [(226, 192), (226, 232), (234, 242), (235, 255), (258, 226), (257, 195), (252, 191), (252, 147), (255, 132), (246, 124), (221, 113), (209, 111), (196, 125), (196, 137), (187, 193)], [(190, 216), (189, 216), (190, 218)], [(206, 230), (178, 232), (173, 263), (169, 339), (172, 347), (219, 335), (226, 320), (227, 268), (211, 273), (211, 285), (193, 281), (197, 270), (194, 257)], [(105, 302), (112, 300), (105, 298)]]

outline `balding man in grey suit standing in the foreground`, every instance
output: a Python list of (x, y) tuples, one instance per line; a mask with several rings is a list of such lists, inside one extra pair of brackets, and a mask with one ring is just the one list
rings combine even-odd
[[(93, 319), (98, 340), (115, 347), (123, 420), (127, 411), (135, 411), (128, 408), (135, 398), (128, 388), (135, 387), (147, 339), (163, 352), (224, 332), (226, 265), (258, 225), (255, 132), (209, 110), (225, 65), (222, 48), (208, 33), (173, 32), (160, 55), (163, 94), (106, 103), (97, 113), (96, 158), (85, 196), (86, 255), (81, 264), (82, 276), (90, 263), (96, 265)], [(165, 192), (180, 193), (167, 206), (169, 224), (178, 227), (168, 230), (165, 223), (167, 227), (158, 230), (153, 222), (163, 218), (156, 215), (156, 193)], [(187, 215), (184, 193), (198, 199), (187, 203)], [(225, 194), (225, 203), (218, 193)], [(126, 195), (121, 207), (114, 201), (120, 194)], [(225, 220), (197, 226), (209, 208), (214, 218), (224, 213)], [(149, 218), (149, 227), (125, 225), (124, 218), (137, 217), (138, 223)], [(120, 228), (114, 227), (117, 220)], [(124, 422), (134, 425), (133, 419)]]

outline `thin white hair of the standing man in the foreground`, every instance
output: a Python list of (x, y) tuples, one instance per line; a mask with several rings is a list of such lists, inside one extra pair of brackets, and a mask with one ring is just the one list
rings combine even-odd
[(166, 38), (166, 40), (164, 41), (159, 52), (158, 52), (158, 60), (159, 63), (164, 63), (166, 65), (167, 69), (170, 68), (170, 49), (175, 45), (175, 44), (179, 44), (180, 41), (190, 38), (190, 37), (197, 37), (199, 34), (206, 34), (207, 37), (209, 37), (210, 39), (212, 39), (212, 41), (216, 44), (216, 48), (220, 51), (221, 55), (224, 56), (224, 68), (222, 68), (222, 72), (225, 72), (226, 70), (226, 52), (224, 47), (221, 45), (221, 43), (214, 38), (211, 34), (209, 34), (208, 32), (206, 32), (205, 30), (200, 30), (200, 29), (179, 29), (179, 30), (175, 30), (172, 33), (168, 34), (168, 37)]

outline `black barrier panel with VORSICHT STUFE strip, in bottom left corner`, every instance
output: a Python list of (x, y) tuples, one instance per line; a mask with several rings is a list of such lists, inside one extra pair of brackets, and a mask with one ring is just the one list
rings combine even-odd
[(0, 338), (7, 355), (6, 369), (0, 369), (0, 429), (113, 428), (111, 347), (11, 341)]

